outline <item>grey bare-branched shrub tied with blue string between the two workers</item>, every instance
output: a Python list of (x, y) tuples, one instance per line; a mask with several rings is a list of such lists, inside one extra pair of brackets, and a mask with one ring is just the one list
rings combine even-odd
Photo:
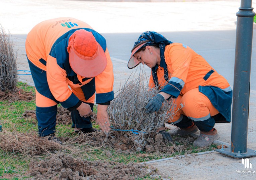
[(171, 98), (164, 101), (158, 112), (146, 113), (145, 106), (149, 99), (159, 93), (156, 88), (149, 90), (146, 73), (140, 70), (139, 76), (129, 79), (111, 101), (108, 108), (109, 118), (113, 125), (110, 135), (125, 136), (132, 139), (136, 147), (143, 147), (149, 134), (163, 126), (164, 122), (174, 116), (175, 104)]

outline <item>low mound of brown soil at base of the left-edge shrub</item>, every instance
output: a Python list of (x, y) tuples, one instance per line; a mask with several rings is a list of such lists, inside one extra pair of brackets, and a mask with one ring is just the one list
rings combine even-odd
[(34, 100), (32, 92), (25, 92), (23, 89), (16, 88), (14, 90), (0, 91), (0, 101), (8, 100), (9, 102), (13, 101), (31, 101)]

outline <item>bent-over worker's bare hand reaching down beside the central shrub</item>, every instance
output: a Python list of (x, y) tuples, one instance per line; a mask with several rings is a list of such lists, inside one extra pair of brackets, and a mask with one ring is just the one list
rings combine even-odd
[(107, 105), (98, 104), (96, 124), (100, 126), (103, 132), (110, 131), (110, 122), (107, 114)]

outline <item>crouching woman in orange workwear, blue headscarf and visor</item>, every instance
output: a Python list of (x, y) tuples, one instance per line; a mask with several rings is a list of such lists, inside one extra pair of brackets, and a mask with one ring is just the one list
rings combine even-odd
[[(232, 89), (228, 81), (190, 47), (172, 43), (156, 32), (144, 32), (135, 42), (128, 68), (139, 63), (152, 70), (150, 88), (160, 90), (145, 106), (146, 112), (158, 111), (163, 101), (176, 98), (177, 112), (168, 123), (177, 128), (169, 133), (183, 136), (199, 129), (193, 145), (211, 145), (218, 137), (215, 123), (231, 121)], [(159, 130), (167, 133), (163, 127)]]

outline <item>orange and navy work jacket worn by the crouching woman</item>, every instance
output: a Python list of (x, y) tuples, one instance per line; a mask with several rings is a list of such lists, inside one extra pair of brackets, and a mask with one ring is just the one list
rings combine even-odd
[[(163, 88), (161, 92), (177, 98), (178, 95), (198, 88), (226, 120), (230, 121), (232, 89), (222, 75), (218, 74), (202, 56), (184, 44), (167, 45), (164, 57), (169, 81), (164, 78), (164, 68), (159, 66), (156, 72), (159, 86)], [(149, 86), (155, 87), (152, 75)]]

